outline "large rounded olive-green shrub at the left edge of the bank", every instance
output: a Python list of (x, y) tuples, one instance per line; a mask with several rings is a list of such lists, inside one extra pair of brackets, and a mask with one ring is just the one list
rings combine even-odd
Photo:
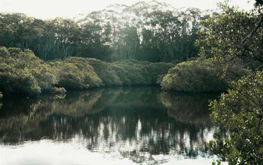
[(0, 90), (36, 95), (53, 90), (54, 72), (32, 51), (0, 47)]

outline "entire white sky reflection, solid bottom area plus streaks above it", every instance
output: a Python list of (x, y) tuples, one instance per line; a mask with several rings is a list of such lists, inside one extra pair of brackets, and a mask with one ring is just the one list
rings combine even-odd
[[(125, 121), (125, 118), (123, 118)], [(63, 121), (61, 121), (63, 122)], [(125, 122), (123, 123), (125, 124)], [(121, 126), (120, 126), (121, 127)], [(120, 128), (115, 122), (110, 121), (107, 128), (103, 122), (97, 128), (98, 135), (96, 137), (85, 137), (80, 132), (70, 139), (67, 143), (54, 142), (51, 140), (40, 140), (38, 142), (25, 142), (22, 146), (2, 146), (0, 149), (1, 165), (17, 164), (173, 164), (183, 163), (205, 165), (211, 164), (214, 157), (208, 154), (201, 154), (194, 159), (180, 153), (184, 149), (199, 150), (203, 148), (203, 144), (199, 141), (209, 141), (212, 139), (214, 129), (200, 130), (197, 135), (200, 137), (190, 144), (190, 135), (187, 130), (181, 136), (181, 132), (177, 131), (175, 135), (170, 136), (169, 132), (162, 134), (162, 131), (153, 130), (148, 135), (142, 135), (142, 123), (137, 121), (135, 130), (136, 137), (133, 139), (123, 139), (122, 135), (117, 135)], [(107, 130), (106, 130), (107, 129)], [(105, 137), (105, 131), (109, 132)], [(94, 144), (96, 138), (96, 144)], [(168, 145), (173, 146), (177, 141), (181, 141), (185, 146), (181, 148), (179, 143), (175, 148), (171, 148), (168, 154), (159, 153), (151, 155), (143, 152), (143, 148), (147, 148), (150, 141), (157, 143), (160, 139), (167, 139)], [(88, 150), (86, 146), (95, 145), (92, 150)]]

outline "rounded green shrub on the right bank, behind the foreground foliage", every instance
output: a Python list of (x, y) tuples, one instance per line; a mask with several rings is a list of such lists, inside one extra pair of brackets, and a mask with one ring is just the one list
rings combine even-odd
[(221, 65), (213, 64), (203, 58), (177, 64), (164, 76), (161, 83), (163, 90), (183, 92), (222, 92), (226, 91), (233, 80), (240, 79), (250, 71), (232, 67), (224, 77)]

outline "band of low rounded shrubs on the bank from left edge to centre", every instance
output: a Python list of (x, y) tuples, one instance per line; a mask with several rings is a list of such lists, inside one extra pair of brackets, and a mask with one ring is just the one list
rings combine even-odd
[(37, 95), (102, 86), (153, 85), (172, 67), (174, 64), (164, 62), (107, 63), (81, 57), (43, 61), (29, 49), (0, 47), (0, 91), (4, 95)]

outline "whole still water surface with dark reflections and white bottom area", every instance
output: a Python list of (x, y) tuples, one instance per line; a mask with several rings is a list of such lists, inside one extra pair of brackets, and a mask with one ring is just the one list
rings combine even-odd
[(3, 100), (0, 165), (210, 165), (217, 96), (123, 87)]

